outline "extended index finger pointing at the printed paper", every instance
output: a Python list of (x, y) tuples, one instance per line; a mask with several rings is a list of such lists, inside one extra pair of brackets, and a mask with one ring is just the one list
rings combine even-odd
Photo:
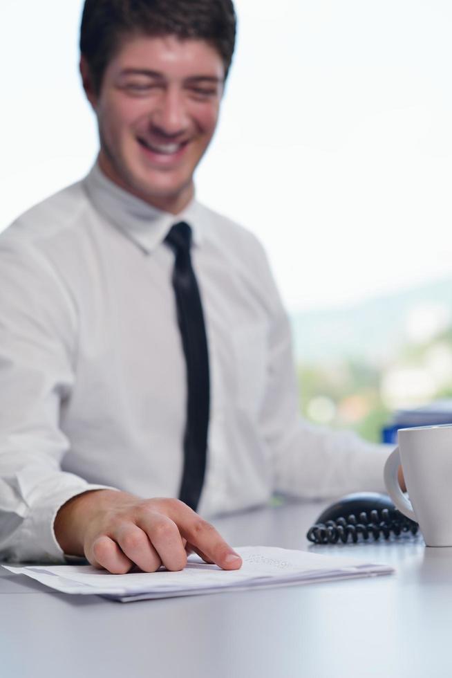
[(225, 542), (213, 525), (201, 518), (187, 504), (176, 502), (170, 511), (171, 520), (176, 523), (183, 538), (197, 551), (207, 556), (205, 560), (216, 563), (222, 569), (239, 569), (242, 559)]

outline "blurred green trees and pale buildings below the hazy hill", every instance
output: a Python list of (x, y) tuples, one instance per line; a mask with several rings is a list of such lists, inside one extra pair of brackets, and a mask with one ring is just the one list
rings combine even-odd
[(407, 340), (379, 363), (337, 356), (301, 363), (299, 385), (307, 419), (381, 441), (394, 410), (452, 397), (452, 327), (429, 340)]

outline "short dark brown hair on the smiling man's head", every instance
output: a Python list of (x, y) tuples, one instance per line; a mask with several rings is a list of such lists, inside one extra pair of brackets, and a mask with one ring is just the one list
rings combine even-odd
[(127, 35), (176, 35), (216, 48), (229, 71), (236, 39), (232, 0), (86, 0), (80, 51), (99, 93), (106, 66)]

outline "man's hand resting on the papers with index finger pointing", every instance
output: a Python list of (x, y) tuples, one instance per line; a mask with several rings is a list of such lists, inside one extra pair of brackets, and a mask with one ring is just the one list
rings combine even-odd
[(86, 492), (59, 509), (54, 528), (67, 556), (85, 556), (91, 565), (112, 574), (125, 574), (134, 565), (144, 572), (155, 572), (160, 565), (180, 570), (191, 551), (223, 569), (242, 565), (211, 524), (175, 499), (142, 500), (114, 490)]

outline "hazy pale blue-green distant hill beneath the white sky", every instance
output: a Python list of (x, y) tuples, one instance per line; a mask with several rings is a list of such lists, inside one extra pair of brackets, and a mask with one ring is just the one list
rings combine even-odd
[(359, 358), (381, 363), (410, 340), (413, 318), (421, 330), (424, 319), (426, 325), (437, 322), (439, 330), (444, 323), (452, 324), (452, 278), (355, 306), (292, 315), (296, 360)]

